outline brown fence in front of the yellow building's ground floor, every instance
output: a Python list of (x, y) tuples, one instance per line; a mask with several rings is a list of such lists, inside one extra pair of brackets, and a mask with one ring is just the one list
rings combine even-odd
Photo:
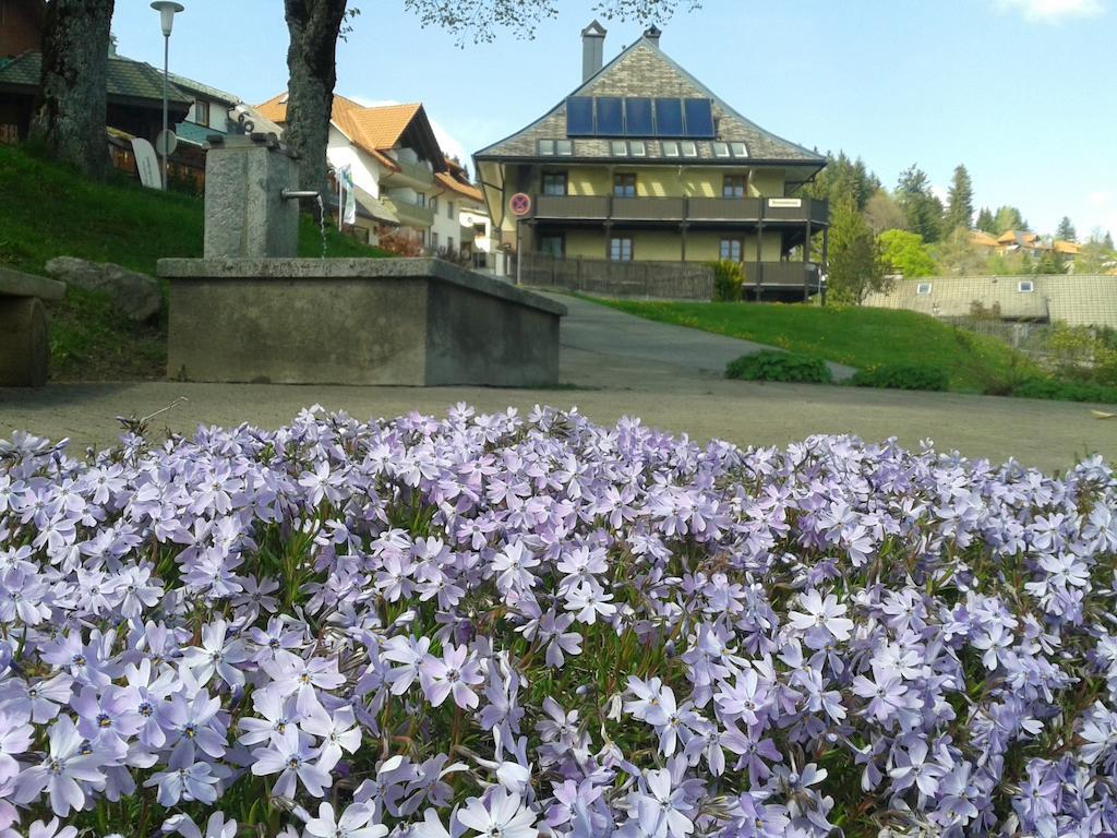
[(709, 301), (714, 296), (714, 268), (700, 263), (562, 259), (546, 254), (521, 258), (521, 282), (536, 288), (649, 299)]

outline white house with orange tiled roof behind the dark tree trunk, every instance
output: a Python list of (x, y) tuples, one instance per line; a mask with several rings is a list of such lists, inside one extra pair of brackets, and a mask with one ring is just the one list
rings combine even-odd
[[(287, 94), (255, 109), (283, 127)], [(365, 107), (335, 94), (326, 155), (335, 170), (351, 168), (359, 207), (356, 227), (369, 241), (395, 231), (418, 247), (440, 246), (438, 199), (454, 189), (439, 178), (448, 172), (447, 161), (421, 104)], [(452, 229), (457, 236), (457, 225)]]

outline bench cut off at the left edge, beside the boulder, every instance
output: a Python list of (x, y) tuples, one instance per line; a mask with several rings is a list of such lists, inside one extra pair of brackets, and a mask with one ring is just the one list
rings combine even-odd
[(61, 299), (65, 283), (0, 268), (0, 387), (47, 383), (47, 310)]

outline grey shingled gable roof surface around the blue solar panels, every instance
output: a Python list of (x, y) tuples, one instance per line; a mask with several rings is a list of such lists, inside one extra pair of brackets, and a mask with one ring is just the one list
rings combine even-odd
[[(801, 145), (772, 134), (734, 111), (698, 79), (669, 58), (648, 38), (640, 38), (593, 77), (573, 91), (571, 96), (677, 96), (704, 97), (713, 102), (717, 140), (744, 142), (750, 163), (784, 163), (792, 165), (825, 165), (825, 159)], [(477, 160), (535, 159), (538, 140), (566, 137), (566, 101), (563, 99), (545, 116), (522, 131), (477, 152)], [(661, 158), (660, 141), (647, 140), (648, 160)], [(699, 160), (714, 160), (709, 143), (698, 143)], [(576, 141), (577, 159), (610, 159), (609, 139)], [(678, 160), (674, 162), (678, 163)], [(689, 161), (693, 163), (694, 161)], [(719, 160), (718, 162), (724, 162)]]

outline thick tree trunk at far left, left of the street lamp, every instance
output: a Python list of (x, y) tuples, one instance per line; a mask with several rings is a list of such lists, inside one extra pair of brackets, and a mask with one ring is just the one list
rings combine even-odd
[(90, 178), (108, 169), (105, 79), (114, 0), (51, 0), (30, 139)]

